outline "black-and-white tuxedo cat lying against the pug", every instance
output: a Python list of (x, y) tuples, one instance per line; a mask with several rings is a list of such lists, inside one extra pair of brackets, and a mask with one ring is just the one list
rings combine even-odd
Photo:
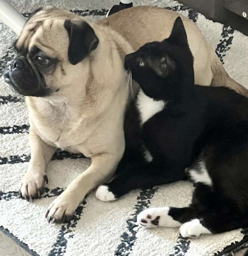
[(141, 90), (127, 113), (116, 178), (96, 192), (111, 201), (186, 173), (195, 183), (189, 207), (137, 216), (140, 226), (180, 227), (183, 237), (248, 226), (248, 99), (225, 87), (194, 85), (193, 62), (180, 17), (168, 39), (125, 57)]

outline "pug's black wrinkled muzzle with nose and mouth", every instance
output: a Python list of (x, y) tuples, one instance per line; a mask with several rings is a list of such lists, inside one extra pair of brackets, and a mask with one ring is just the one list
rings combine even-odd
[(17, 55), (3, 71), (4, 80), (24, 96), (42, 97), (50, 94), (44, 77), (35, 68), (29, 56)]

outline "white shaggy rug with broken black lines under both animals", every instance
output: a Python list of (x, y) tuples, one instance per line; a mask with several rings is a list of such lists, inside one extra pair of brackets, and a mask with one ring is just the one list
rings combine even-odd
[[(11, 0), (24, 16), (44, 5), (102, 19), (118, 0)], [(214, 23), (197, 11), (171, 0), (141, 0), (134, 5), (157, 5), (193, 19), (216, 49), (227, 72), (248, 85), (248, 37), (230, 27)], [(0, 23), (0, 73), (12, 59), (15, 34)], [(34, 203), (18, 198), (18, 182), (30, 159), (28, 113), (20, 96), (14, 95), (0, 78), (0, 230), (32, 255), (40, 256), (211, 256), (232, 255), (244, 247), (248, 231), (239, 229), (218, 235), (184, 239), (174, 228), (146, 230), (136, 225), (136, 215), (153, 206), (182, 207), (190, 203), (192, 184), (181, 181), (153, 189), (135, 190), (114, 202), (101, 202), (91, 193), (68, 224), (49, 225), (48, 205), (90, 161), (79, 155), (59, 152), (47, 169), (46, 193)]]

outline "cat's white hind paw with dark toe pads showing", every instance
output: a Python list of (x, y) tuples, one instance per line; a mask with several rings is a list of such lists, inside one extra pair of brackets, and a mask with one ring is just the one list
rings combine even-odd
[(154, 207), (143, 210), (137, 215), (137, 223), (139, 226), (151, 227), (179, 227), (182, 225), (179, 221), (175, 221), (168, 215), (169, 207)]

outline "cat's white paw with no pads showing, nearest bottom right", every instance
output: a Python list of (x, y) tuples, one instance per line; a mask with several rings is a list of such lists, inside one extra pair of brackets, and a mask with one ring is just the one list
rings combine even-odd
[(180, 233), (182, 237), (199, 237), (201, 234), (211, 234), (206, 227), (204, 227), (199, 219), (194, 219), (192, 221), (188, 221), (183, 223), (180, 226)]

